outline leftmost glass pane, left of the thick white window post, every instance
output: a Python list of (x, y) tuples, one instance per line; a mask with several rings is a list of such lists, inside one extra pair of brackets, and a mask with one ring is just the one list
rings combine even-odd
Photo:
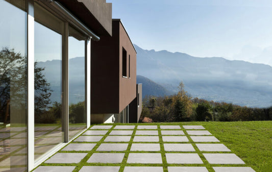
[(27, 13), (1, 0), (0, 16), (0, 171), (20, 172), (27, 169)]

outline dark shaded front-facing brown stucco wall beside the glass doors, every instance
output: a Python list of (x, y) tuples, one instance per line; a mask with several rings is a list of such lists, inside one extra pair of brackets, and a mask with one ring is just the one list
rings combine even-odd
[(118, 33), (91, 41), (91, 114), (119, 113)]

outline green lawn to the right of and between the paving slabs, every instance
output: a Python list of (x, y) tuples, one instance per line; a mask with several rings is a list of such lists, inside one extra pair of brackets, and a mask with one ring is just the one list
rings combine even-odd
[[(272, 121), (172, 122), (172, 123), (114, 124), (114, 125), (158, 125), (158, 126), (159, 125), (180, 125), (180, 126), (202, 125), (209, 132), (211, 132), (213, 136), (218, 138), (221, 143), (224, 143), (232, 151), (232, 153), (235, 153), (238, 157), (240, 157), (245, 162), (245, 165), (238, 165), (238, 166), (250, 166), (257, 172), (271, 172), (272, 171)], [(103, 165), (100, 163), (87, 163), (86, 161), (90, 158), (90, 156), (94, 152), (96, 152), (94, 150), (98, 148), (98, 146), (103, 142), (103, 140), (111, 132), (111, 130), (107, 132), (107, 134), (103, 137), (101, 141), (97, 142), (97, 145), (92, 151), (80, 151), (82, 153), (88, 153), (88, 155), (84, 159), (82, 159), (80, 163), (78, 164), (42, 163), (41, 165), (77, 166), (76, 169), (73, 170), (73, 172), (79, 171), (84, 165)], [(186, 131), (183, 128), (182, 130), (187, 135)], [(161, 140), (160, 128), (158, 128), (158, 131), (160, 136), (159, 142), (161, 145), (161, 150), (164, 150), (162, 148), (163, 142)], [(158, 152), (158, 153), (162, 153), (163, 164), (126, 164), (135, 132), (136, 132), (136, 128), (134, 129), (127, 151), (123, 151), (123, 153), (125, 153), (125, 158), (123, 159), (122, 163), (121, 164), (107, 164), (107, 165), (112, 165), (112, 166), (118, 165), (120, 166), (120, 171), (122, 171), (125, 165), (130, 165), (130, 166), (143, 166), (143, 165), (161, 166), (162, 165), (164, 168), (164, 172), (167, 171), (167, 166), (175, 166), (175, 164), (167, 164), (164, 151)], [(189, 138), (189, 141), (190, 143), (192, 143), (192, 145), (194, 146), (196, 150), (196, 153), (198, 153), (201, 156), (201, 159), (204, 162), (204, 164), (197, 164), (196, 166), (206, 166), (209, 171), (214, 171), (212, 166), (220, 166), (219, 164), (217, 165), (209, 164), (207, 160), (204, 158), (204, 156), (197, 149), (195, 143), (190, 138)], [(73, 151), (60, 151), (60, 152), (68, 153)], [(156, 152), (153, 152), (153, 153), (156, 153)], [(227, 166), (237, 166), (237, 165), (227, 165)]]

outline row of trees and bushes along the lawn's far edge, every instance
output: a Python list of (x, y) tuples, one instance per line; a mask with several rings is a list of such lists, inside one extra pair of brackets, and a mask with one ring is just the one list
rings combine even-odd
[(179, 92), (170, 96), (146, 96), (141, 119), (154, 122), (272, 120), (272, 106), (250, 108), (190, 97), (181, 82)]

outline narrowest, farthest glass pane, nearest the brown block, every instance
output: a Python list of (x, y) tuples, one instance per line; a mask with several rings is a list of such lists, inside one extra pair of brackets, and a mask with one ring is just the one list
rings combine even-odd
[(85, 38), (69, 27), (69, 138), (86, 128)]

